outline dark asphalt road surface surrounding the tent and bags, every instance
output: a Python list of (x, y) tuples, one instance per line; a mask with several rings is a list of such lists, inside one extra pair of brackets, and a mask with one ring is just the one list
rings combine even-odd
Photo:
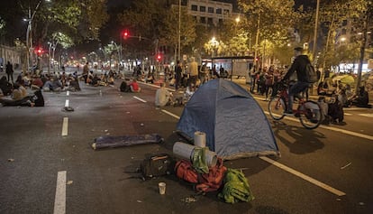
[[(315, 130), (292, 118), (269, 119), (281, 157), (224, 162), (245, 169), (255, 196), (231, 205), (214, 193), (196, 195), (173, 175), (138, 178), (146, 155), (172, 154), (182, 140), (174, 130), (183, 108), (155, 108), (154, 87), (141, 84), (133, 94), (119, 92), (119, 85), (45, 92), (46, 107), (0, 107), (0, 213), (373, 212), (372, 109), (345, 110), (346, 126)], [(67, 100), (75, 111), (62, 111)], [(151, 133), (165, 143), (91, 148), (98, 136)], [(159, 195), (159, 181), (167, 183), (166, 195)], [(190, 196), (196, 201), (187, 203)]]

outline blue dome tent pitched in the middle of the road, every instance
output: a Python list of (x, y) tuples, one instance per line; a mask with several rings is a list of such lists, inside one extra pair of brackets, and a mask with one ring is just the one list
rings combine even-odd
[(279, 155), (267, 117), (249, 92), (232, 81), (213, 79), (187, 102), (177, 132), (193, 139), (205, 132), (206, 145), (226, 160)]

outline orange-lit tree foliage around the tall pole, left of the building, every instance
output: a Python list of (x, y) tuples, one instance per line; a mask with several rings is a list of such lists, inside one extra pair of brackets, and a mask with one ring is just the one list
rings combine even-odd
[[(164, 0), (134, 1), (131, 8), (119, 15), (124, 28), (130, 29), (133, 35), (149, 38), (149, 48), (157, 41), (158, 47), (168, 46), (173, 49), (178, 43), (178, 7)], [(187, 10), (181, 13), (181, 47), (195, 42), (196, 23)], [(144, 27), (148, 26), (148, 27)]]

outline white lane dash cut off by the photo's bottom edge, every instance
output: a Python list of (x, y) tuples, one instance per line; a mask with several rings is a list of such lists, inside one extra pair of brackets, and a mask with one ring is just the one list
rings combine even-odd
[(53, 214), (66, 213), (66, 171), (57, 173), (56, 196), (54, 198)]

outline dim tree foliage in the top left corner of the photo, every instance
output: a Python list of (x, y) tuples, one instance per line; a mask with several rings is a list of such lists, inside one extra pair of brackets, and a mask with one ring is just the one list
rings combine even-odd
[[(11, 1), (12, 13), (5, 13), (6, 26), (12, 25), (10, 18), (29, 18), (32, 15), (32, 38), (41, 44), (52, 38), (53, 33), (63, 33), (74, 42), (97, 40), (99, 29), (107, 21), (107, 0), (18, 0)], [(6, 7), (4, 7), (6, 8)], [(12, 20), (14, 22), (14, 20)], [(24, 23), (21, 35), (26, 34), (27, 22)], [(5, 29), (8, 36), (17, 34), (17, 29)], [(14, 33), (13, 35), (11, 33)], [(21, 38), (25, 38), (22, 36)]]

